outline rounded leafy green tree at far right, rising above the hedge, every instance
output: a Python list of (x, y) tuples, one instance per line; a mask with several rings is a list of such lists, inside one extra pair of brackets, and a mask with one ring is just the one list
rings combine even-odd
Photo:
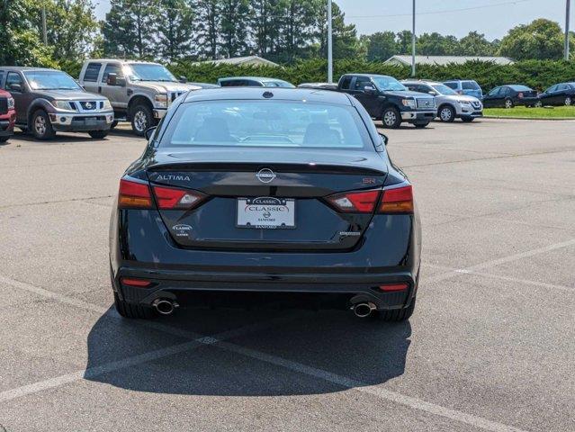
[(511, 29), (501, 40), (499, 53), (516, 60), (559, 59), (563, 54), (563, 38), (558, 23), (542, 18)]

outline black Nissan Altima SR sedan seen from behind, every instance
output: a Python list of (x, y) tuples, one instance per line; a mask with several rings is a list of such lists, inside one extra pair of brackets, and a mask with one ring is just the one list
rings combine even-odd
[(355, 98), (199, 90), (147, 135), (112, 211), (123, 317), (271, 302), (409, 319), (421, 247), (412, 187)]

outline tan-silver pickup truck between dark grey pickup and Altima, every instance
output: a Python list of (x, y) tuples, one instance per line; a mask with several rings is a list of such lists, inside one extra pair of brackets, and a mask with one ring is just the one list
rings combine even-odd
[(79, 81), (88, 92), (110, 99), (116, 120), (130, 121), (139, 136), (164, 117), (176, 97), (201, 88), (159, 63), (113, 58), (86, 60)]

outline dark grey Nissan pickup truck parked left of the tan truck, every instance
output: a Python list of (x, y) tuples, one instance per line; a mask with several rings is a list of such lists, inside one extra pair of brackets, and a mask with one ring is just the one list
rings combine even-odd
[(103, 138), (110, 131), (110, 101), (86, 92), (61, 70), (0, 66), (0, 88), (13, 96), (16, 126), (36, 139), (52, 139), (56, 132), (87, 132)]

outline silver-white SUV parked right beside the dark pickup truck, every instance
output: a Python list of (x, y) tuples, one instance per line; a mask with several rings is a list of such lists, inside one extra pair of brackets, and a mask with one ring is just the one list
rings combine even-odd
[(409, 90), (436, 96), (437, 117), (441, 121), (473, 121), (483, 116), (483, 104), (477, 97), (457, 94), (442, 83), (423, 80), (401, 81)]

